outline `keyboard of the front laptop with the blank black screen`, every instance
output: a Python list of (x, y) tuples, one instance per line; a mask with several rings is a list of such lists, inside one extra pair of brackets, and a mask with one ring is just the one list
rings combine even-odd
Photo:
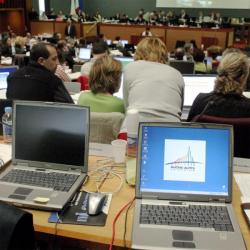
[(1, 181), (68, 192), (78, 177), (79, 175), (76, 174), (12, 169), (7, 175), (1, 178)]

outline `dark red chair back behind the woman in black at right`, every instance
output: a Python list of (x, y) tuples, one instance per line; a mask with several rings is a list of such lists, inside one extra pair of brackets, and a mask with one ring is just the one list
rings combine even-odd
[(234, 127), (234, 156), (250, 158), (250, 117), (218, 117), (211, 115), (197, 115), (192, 121), (229, 124)]

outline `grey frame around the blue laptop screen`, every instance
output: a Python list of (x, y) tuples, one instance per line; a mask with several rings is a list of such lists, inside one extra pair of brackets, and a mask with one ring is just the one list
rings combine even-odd
[[(142, 131), (144, 126), (154, 127), (172, 127), (172, 128), (209, 128), (209, 129), (227, 129), (230, 132), (230, 143), (229, 143), (229, 166), (228, 166), (228, 195), (207, 195), (207, 194), (187, 194), (187, 193), (159, 193), (159, 192), (141, 192), (141, 150), (140, 146), (142, 143)], [(206, 124), (206, 123), (158, 123), (158, 122), (140, 122), (138, 128), (138, 152), (136, 160), (136, 198), (138, 199), (159, 199), (159, 200), (182, 200), (182, 201), (219, 201), (225, 202), (232, 201), (232, 163), (233, 163), (233, 127), (225, 124)], [(215, 173), (216, 174), (216, 173)]]

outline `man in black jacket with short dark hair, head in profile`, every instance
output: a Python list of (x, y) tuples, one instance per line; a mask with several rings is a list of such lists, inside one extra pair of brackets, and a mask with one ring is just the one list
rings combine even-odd
[(58, 64), (53, 45), (32, 47), (30, 63), (7, 78), (8, 99), (73, 103), (62, 81), (54, 74)]

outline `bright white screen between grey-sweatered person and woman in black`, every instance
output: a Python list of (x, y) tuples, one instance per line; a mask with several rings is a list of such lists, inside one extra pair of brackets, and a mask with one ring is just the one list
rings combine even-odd
[(190, 107), (200, 93), (209, 93), (214, 89), (215, 75), (186, 75), (184, 79), (184, 107)]

